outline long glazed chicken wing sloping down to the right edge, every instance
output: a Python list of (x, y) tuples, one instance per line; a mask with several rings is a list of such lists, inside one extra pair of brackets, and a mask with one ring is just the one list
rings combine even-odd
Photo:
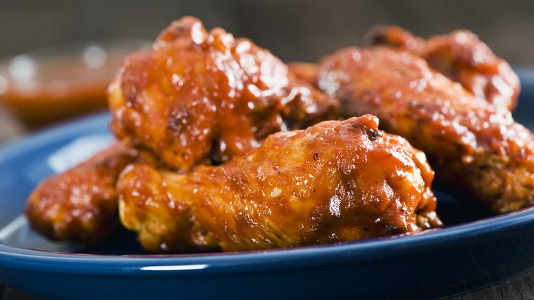
[(498, 213), (534, 204), (533, 134), (411, 51), (342, 49), (322, 60), (318, 86), (340, 98), (346, 116), (374, 114), (381, 129), (424, 151), (434, 186)]

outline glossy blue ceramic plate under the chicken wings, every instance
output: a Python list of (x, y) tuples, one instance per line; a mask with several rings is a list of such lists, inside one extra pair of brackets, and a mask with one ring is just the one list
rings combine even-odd
[[(515, 117), (534, 127), (534, 72)], [(148, 255), (133, 236), (106, 247), (51, 243), (21, 217), (45, 176), (112, 141), (109, 114), (0, 148), (0, 281), (51, 299), (388, 299), (455, 295), (534, 266), (534, 208), (477, 213), (438, 194), (443, 229), (272, 251)]]

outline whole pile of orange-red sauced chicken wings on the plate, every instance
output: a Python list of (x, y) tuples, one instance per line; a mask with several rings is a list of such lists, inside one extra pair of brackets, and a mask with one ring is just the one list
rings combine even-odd
[(116, 143), (44, 179), (31, 227), (95, 245), (117, 228), (155, 253), (346, 242), (441, 227), (433, 188), (501, 214), (534, 204), (518, 77), (466, 30), (285, 64), (184, 17), (110, 84)]

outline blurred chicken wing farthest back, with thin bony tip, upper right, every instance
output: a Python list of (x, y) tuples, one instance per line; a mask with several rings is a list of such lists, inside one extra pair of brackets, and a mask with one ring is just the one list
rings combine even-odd
[(520, 92), (518, 76), (505, 60), (468, 30), (424, 40), (401, 27), (388, 26), (371, 30), (368, 39), (374, 45), (391, 45), (416, 53), (432, 68), (497, 108), (516, 108)]

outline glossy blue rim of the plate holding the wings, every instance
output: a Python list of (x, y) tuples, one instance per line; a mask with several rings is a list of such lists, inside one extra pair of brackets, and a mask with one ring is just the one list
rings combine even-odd
[[(103, 124), (107, 126), (109, 118), (109, 112), (91, 114), (30, 134), (7, 145), (1, 145), (0, 165), (14, 156), (24, 155), (25, 151), (23, 150), (28, 149), (30, 145), (40, 147), (39, 145), (55, 142), (56, 139), (59, 139), (58, 136), (75, 138), (84, 134), (99, 132), (104, 129)], [(108, 130), (107, 127), (105, 130)], [(0, 267), (55, 273), (79, 273), (83, 271), (95, 275), (136, 275), (138, 273), (186, 275), (199, 272), (246, 272), (252, 271), (251, 268), (253, 271), (267, 271), (391, 258), (392, 256), (414, 253), (414, 251), (417, 253), (420, 251), (419, 249), (424, 249), (428, 245), (454, 247), (472, 242), (474, 237), (481, 239), (488, 236), (511, 234), (515, 232), (515, 229), (524, 229), (529, 225), (534, 226), (534, 207), (459, 225), (451, 225), (442, 229), (431, 229), (418, 234), (401, 234), (330, 245), (265, 251), (185, 255), (58, 253), (25, 249), (0, 242), (0, 257), (4, 258), (0, 260)], [(342, 259), (337, 259), (338, 257)], [(285, 264), (277, 264), (277, 262), (284, 262)], [(175, 267), (172, 268), (171, 266)]]

